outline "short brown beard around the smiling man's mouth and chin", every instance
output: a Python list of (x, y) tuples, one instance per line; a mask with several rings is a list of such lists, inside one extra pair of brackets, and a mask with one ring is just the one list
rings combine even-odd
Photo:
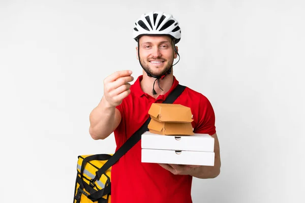
[[(166, 72), (168, 72), (168, 70), (170, 70), (171, 67), (173, 66), (174, 57), (172, 57), (170, 59), (170, 61), (168, 61), (164, 58), (159, 58), (159, 57), (158, 58), (148, 58), (147, 60), (144, 60), (141, 58), (140, 60), (141, 60), (142, 67), (146, 72), (148, 72), (149, 74), (151, 74), (153, 76), (161, 77), (164, 74), (166, 74)], [(159, 68), (158, 66), (156, 66), (157, 70), (154, 70), (156, 68), (155, 67), (152, 68), (149, 66), (149, 63), (150, 63), (149, 60), (164, 60), (165, 65), (164, 65), (163, 70), (160, 72), (159, 69), (161, 69), (161, 68)]]

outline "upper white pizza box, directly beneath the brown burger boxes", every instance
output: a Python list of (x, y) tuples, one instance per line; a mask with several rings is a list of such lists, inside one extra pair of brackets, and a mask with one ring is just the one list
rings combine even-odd
[(142, 134), (141, 148), (214, 152), (214, 138), (209, 134), (195, 133), (192, 136), (166, 136), (146, 131)]

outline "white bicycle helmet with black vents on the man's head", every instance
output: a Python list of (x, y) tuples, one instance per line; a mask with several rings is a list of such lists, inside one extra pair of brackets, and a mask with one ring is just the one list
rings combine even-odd
[(138, 41), (142, 35), (168, 35), (177, 44), (181, 38), (179, 22), (171, 14), (149, 12), (135, 22), (133, 38)]

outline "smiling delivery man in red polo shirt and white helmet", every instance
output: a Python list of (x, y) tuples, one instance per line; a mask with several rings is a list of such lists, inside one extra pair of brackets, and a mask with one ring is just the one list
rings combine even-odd
[[(104, 80), (104, 95), (90, 114), (90, 135), (105, 139), (114, 132), (116, 150), (149, 117), (153, 103), (162, 103), (178, 85), (173, 76), (173, 61), (178, 54), (181, 31), (172, 15), (150, 12), (135, 22), (137, 59), (143, 68), (133, 85), (131, 71), (119, 71)], [(156, 83), (157, 81), (157, 83)], [(195, 133), (215, 138), (215, 165), (192, 166), (141, 162), (141, 141), (119, 159), (111, 172), (111, 202), (190, 203), (192, 177), (215, 178), (220, 173), (219, 142), (215, 114), (208, 99), (190, 89), (175, 100), (191, 108)]]

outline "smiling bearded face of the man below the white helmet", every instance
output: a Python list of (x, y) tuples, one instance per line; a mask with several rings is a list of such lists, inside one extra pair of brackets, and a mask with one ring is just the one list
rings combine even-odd
[[(141, 64), (151, 75), (164, 75), (171, 69), (174, 58), (177, 57), (172, 40), (168, 36), (142, 36), (139, 39), (139, 47)], [(138, 47), (136, 49), (138, 58)]]

